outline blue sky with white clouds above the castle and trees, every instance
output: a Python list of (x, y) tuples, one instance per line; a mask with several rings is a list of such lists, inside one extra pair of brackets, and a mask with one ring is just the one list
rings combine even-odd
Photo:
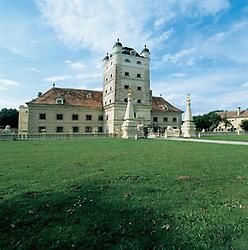
[(102, 89), (117, 38), (151, 51), (151, 88), (194, 114), (248, 108), (248, 0), (0, 0), (0, 108)]

